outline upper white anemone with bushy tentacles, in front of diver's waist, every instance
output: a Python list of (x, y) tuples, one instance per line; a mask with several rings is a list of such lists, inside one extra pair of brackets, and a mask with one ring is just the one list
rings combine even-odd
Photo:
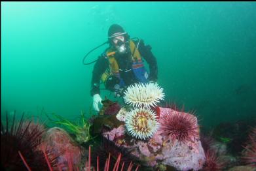
[(134, 107), (155, 107), (163, 99), (163, 89), (157, 83), (133, 84), (124, 91), (124, 102)]

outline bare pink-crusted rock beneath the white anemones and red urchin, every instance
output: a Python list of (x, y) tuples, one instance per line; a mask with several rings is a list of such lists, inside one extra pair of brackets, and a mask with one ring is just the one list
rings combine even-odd
[[(158, 108), (160, 118), (163, 113), (174, 114), (170, 108)], [(187, 117), (195, 116), (183, 112)], [(160, 121), (158, 122), (160, 123)], [(196, 120), (196, 128), (198, 128)], [(206, 160), (204, 149), (199, 140), (199, 129), (193, 134), (188, 134), (189, 138), (186, 141), (179, 141), (178, 138), (165, 136), (162, 130), (153, 134), (153, 137), (147, 140), (139, 140), (128, 134), (124, 123), (119, 127), (111, 129), (111, 131), (103, 132), (103, 136), (115, 142), (117, 146), (122, 146), (128, 149), (133, 149), (132, 154), (138, 157), (141, 161), (147, 163), (147, 166), (157, 168), (161, 164), (173, 166), (177, 170), (200, 170)]]

